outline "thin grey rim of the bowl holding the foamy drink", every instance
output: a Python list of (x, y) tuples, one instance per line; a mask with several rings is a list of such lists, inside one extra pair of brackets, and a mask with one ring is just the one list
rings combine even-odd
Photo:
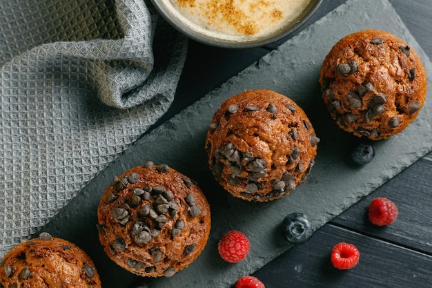
[(246, 41), (224, 40), (224, 39), (210, 37), (208, 35), (199, 33), (196, 30), (193, 30), (190, 27), (183, 25), (179, 21), (179, 19), (177, 19), (177, 17), (175, 17), (175, 15), (173, 15), (172, 12), (170, 12), (170, 10), (166, 8), (166, 6), (163, 3), (164, 1), (161, 0), (151, 0), (151, 1), (153, 3), (153, 6), (155, 6), (157, 12), (159, 12), (159, 14), (161, 15), (161, 17), (163, 17), (176, 30), (186, 35), (190, 39), (193, 39), (202, 44), (206, 44), (209, 46), (216, 46), (219, 48), (255, 48), (255, 47), (261, 47), (267, 44), (271, 44), (293, 33), (295, 30), (300, 28), (300, 26), (302, 26), (306, 21), (308, 21), (308, 19), (315, 13), (317, 8), (321, 5), (323, 0), (311, 0), (307, 8), (303, 10), (302, 14), (299, 15), (299, 17), (297, 17), (294, 21), (291, 21), (286, 28), (283, 28), (282, 32), (279, 32), (280, 30), (277, 30), (270, 35), (266, 35), (266, 37), (257, 38), (257, 39), (251, 38), (250, 40), (246, 40)]

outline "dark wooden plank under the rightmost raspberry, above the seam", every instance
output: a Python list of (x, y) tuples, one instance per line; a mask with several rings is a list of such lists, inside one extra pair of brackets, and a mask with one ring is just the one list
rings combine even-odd
[[(429, 153), (332, 222), (373, 238), (432, 255), (431, 171), (432, 153)], [(376, 197), (389, 198), (397, 206), (397, 220), (388, 227), (377, 227), (367, 218), (369, 203)]]

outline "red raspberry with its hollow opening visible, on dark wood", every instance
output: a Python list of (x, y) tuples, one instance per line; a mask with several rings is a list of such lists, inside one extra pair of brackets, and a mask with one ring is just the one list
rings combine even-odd
[(357, 265), (360, 252), (353, 244), (339, 243), (331, 251), (331, 262), (337, 269), (351, 269)]

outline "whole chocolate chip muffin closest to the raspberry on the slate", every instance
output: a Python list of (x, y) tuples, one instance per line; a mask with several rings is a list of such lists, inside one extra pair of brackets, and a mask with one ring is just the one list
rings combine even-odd
[(115, 177), (97, 215), (108, 257), (140, 276), (173, 276), (199, 256), (210, 233), (210, 207), (199, 186), (153, 162)]

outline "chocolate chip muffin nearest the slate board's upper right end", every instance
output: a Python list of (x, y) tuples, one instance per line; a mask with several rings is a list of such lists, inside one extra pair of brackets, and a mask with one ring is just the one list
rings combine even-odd
[(382, 140), (406, 128), (424, 104), (426, 73), (405, 41), (380, 30), (347, 35), (322, 64), (322, 98), (340, 128)]

